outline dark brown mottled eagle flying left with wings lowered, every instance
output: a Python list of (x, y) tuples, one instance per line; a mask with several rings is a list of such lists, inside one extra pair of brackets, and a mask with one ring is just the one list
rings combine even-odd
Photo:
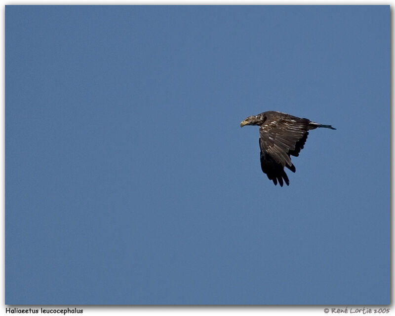
[(289, 185), (284, 167), (295, 172), (296, 169), (290, 156), (299, 156), (309, 135), (309, 130), (314, 130), (317, 127), (335, 130), (331, 125), (318, 124), (307, 118), (277, 111), (248, 116), (240, 123), (240, 127), (245, 125), (259, 126), (262, 171), (275, 185), (278, 181), (280, 186), (283, 185), (283, 182)]

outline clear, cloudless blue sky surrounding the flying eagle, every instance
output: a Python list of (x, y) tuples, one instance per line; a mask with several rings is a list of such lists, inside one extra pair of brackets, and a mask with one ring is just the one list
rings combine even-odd
[[(389, 304), (389, 6), (6, 6), (5, 304)], [(310, 132), (261, 172), (278, 110)]]

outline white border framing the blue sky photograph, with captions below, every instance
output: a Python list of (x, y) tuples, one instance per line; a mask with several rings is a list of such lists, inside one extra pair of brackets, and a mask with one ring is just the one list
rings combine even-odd
[[(3, 62), (1, 63), (1, 72), (4, 74), (4, 58), (5, 58), (5, 53), (4, 53), (4, 40), (5, 40), (5, 5), (16, 5), (16, 4), (384, 4), (384, 5), (392, 5), (394, 1), (389, 1), (389, 2), (383, 2), (383, 1), (356, 1), (356, 0), (349, 0), (347, 2), (343, 1), (324, 1), (324, 0), (316, 0), (316, 1), (296, 1), (296, 0), (288, 0), (288, 1), (275, 1), (275, 0), (267, 0), (267, 1), (258, 1), (258, 0), (248, 0), (248, 1), (232, 1), (232, 0), (213, 0), (213, 1), (208, 1), (208, 0), (178, 0), (178, 1), (166, 1), (166, 0), (152, 0), (152, 1), (147, 1), (147, 0), (135, 0), (135, 1), (124, 1), (124, 0), (118, 0), (116, 3), (114, 2), (109, 2), (109, 1), (94, 1), (94, 0), (85, 0), (85, 1), (78, 1), (78, 0), (71, 0), (71, 1), (60, 1), (60, 0), (53, 0), (53, 1), (33, 1), (33, 0), (23, 0), (23, 1), (1, 1), (2, 3), (2, 32), (1, 32), (1, 45), (2, 45), (2, 54), (3, 54)], [(392, 16), (392, 13), (391, 13)], [(392, 19), (391, 19), (392, 20)], [(394, 38), (393, 36), (393, 23), (391, 23), (391, 42)], [(392, 46), (392, 45), (391, 45)], [(393, 54), (391, 54), (391, 60), (392, 60)], [(391, 70), (392, 70), (392, 63), (391, 63)], [(391, 71), (391, 82), (393, 83), (393, 76), (392, 76), (392, 71)], [(26, 315), (26, 314), (5, 314), (5, 309), (6, 308), (20, 308), (20, 309), (39, 309), (41, 307), (43, 308), (49, 308), (49, 306), (6, 306), (4, 305), (4, 216), (5, 216), (5, 210), (4, 210), (4, 188), (5, 188), (5, 174), (4, 174), (4, 168), (5, 168), (5, 156), (4, 156), (4, 92), (5, 92), (5, 85), (4, 85), (4, 75), (2, 76), (2, 81), (3, 81), (3, 102), (2, 102), (2, 111), (0, 112), (0, 129), (3, 133), (3, 137), (0, 138), (1, 142), (1, 148), (3, 148), (3, 155), (2, 155), (2, 168), (1, 168), (1, 178), (3, 181), (1, 182), (2, 186), (2, 194), (1, 196), (1, 205), (3, 206), (3, 216), (1, 218), (2, 221), (2, 227), (3, 227), (3, 234), (1, 235), (2, 237), (2, 243), (0, 243), (0, 248), (1, 248), (1, 253), (3, 260), (1, 261), (1, 268), (3, 273), (0, 274), (0, 283), (2, 286), (0, 286), (0, 297), (2, 298), (3, 302), (3, 307), (0, 308), (0, 315)], [(391, 91), (393, 84), (391, 84)], [(391, 98), (391, 105), (392, 105), (392, 98)], [(391, 121), (393, 121), (393, 111), (391, 111)], [(391, 148), (393, 148), (393, 129), (391, 128)], [(391, 156), (393, 154), (393, 151), (391, 150)], [(392, 160), (391, 160), (391, 167), (392, 167)], [(391, 168), (392, 171), (392, 168)], [(392, 173), (391, 173), (392, 175)], [(393, 181), (391, 177), (391, 186), (393, 187)], [(391, 196), (392, 192), (391, 190)], [(393, 199), (391, 198), (391, 209), (393, 209)], [(391, 216), (391, 227), (393, 226), (393, 220)], [(391, 253), (394, 250), (394, 243), (393, 241), (393, 234), (391, 234)], [(392, 262), (392, 255), (391, 255), (391, 262)], [(392, 269), (391, 269), (392, 270)], [(391, 284), (393, 283), (393, 277), (391, 276)], [(391, 289), (393, 287), (391, 286)], [(391, 294), (393, 291), (391, 291)], [(391, 302), (393, 302), (393, 295), (391, 295)], [(388, 314), (350, 314), (350, 308), (363, 308), (363, 306), (348, 306), (349, 313), (348, 314), (332, 314), (329, 312), (328, 314), (324, 313), (324, 309), (328, 308), (329, 310), (332, 308), (346, 308), (346, 306), (64, 306), (64, 308), (74, 308), (77, 307), (78, 309), (83, 310), (83, 314), (67, 314), (67, 315), (171, 315), (171, 316), (177, 316), (177, 315), (204, 315), (204, 316), (222, 316), (222, 315), (256, 315), (256, 316), (266, 316), (266, 315), (297, 315), (297, 316), (302, 316), (302, 315), (395, 315), (395, 307), (393, 308), (393, 304), (390, 306), (383, 306), (386, 308), (390, 308), (390, 313)], [(366, 306), (367, 308), (379, 308), (379, 306)], [(59, 309), (62, 308), (60, 306), (53, 306), (53, 308)], [(29, 314), (29, 315), (63, 315), (63, 314)]]

